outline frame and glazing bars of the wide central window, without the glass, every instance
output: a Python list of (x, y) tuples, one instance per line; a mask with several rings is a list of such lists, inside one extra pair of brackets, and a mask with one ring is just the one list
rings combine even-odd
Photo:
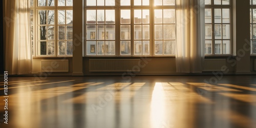
[[(175, 5), (170, 5), (170, 6), (166, 6), (166, 5), (162, 5), (162, 6), (154, 6), (154, 1), (149, 0), (149, 5), (147, 6), (143, 6), (143, 2), (141, 0), (141, 6), (135, 6), (134, 5), (134, 0), (130, 1), (130, 6), (121, 6), (120, 0), (115, 0), (115, 6), (97, 6), (97, 1), (96, 1), (96, 5), (95, 6), (87, 6), (87, 1), (84, 1), (84, 56), (85, 57), (175, 57), (175, 54), (168, 54), (168, 55), (164, 55), (164, 49), (163, 49), (163, 54), (162, 55), (155, 55), (155, 23), (154, 23), (154, 10), (155, 9), (174, 9), (175, 10), (175, 47), (176, 47), (176, 34), (177, 34), (177, 25), (176, 25), (176, 0), (174, 0)], [(172, 7), (172, 8), (170, 8)], [(87, 10), (98, 10), (98, 9), (108, 9), (108, 8), (112, 8), (115, 10), (115, 55), (88, 55), (88, 49), (87, 49), (87, 41), (90, 39), (87, 39)], [(131, 53), (129, 55), (122, 55), (121, 54), (121, 41), (124, 39), (121, 39), (121, 10), (125, 10), (125, 9), (129, 9), (130, 13), (131, 13), (131, 23), (127, 24), (131, 26), (131, 39), (127, 39), (127, 41), (131, 41), (131, 48), (130, 51)], [(135, 24), (134, 23), (134, 11), (135, 10), (149, 10), (150, 13), (150, 22), (148, 24), (143, 24), (143, 22), (141, 22), (141, 24)], [(142, 14), (143, 15), (143, 14)], [(141, 17), (142, 18), (142, 17)], [(96, 25), (96, 24), (95, 24)], [(149, 39), (143, 39), (143, 27), (141, 28), (141, 39), (135, 39), (135, 28), (134, 25), (149, 25)], [(165, 25), (164, 23), (162, 23), (161, 25)], [(164, 31), (164, 30), (162, 30)], [(164, 35), (162, 35), (164, 36)], [(141, 41), (141, 47), (142, 47), (142, 54), (141, 55), (136, 55), (135, 54), (135, 41)], [(149, 48), (149, 52), (150, 54), (148, 55), (143, 55), (143, 41), (148, 41), (149, 40), (149, 44), (150, 44), (150, 48)], [(164, 38), (162, 39), (163, 41), (165, 40)], [(171, 40), (171, 39), (167, 39), (167, 40)], [(95, 40), (97, 41), (97, 40)], [(97, 43), (97, 42), (96, 42)], [(176, 50), (176, 48), (175, 48)]]

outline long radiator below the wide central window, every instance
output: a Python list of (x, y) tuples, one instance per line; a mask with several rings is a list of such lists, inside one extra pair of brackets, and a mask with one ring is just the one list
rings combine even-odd
[(140, 59), (89, 59), (90, 72), (140, 72)]

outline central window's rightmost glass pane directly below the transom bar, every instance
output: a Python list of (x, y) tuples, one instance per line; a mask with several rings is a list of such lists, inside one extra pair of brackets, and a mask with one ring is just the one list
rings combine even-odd
[(163, 23), (164, 24), (174, 24), (175, 23), (175, 10), (174, 9), (164, 9), (163, 10)]

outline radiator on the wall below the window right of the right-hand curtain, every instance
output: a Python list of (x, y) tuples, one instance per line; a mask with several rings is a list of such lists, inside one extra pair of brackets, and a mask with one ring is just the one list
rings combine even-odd
[(221, 71), (226, 66), (226, 59), (205, 59), (203, 71)]

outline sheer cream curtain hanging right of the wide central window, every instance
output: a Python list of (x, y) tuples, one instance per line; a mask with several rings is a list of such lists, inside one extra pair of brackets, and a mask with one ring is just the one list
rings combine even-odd
[(177, 0), (176, 68), (201, 73), (204, 61), (204, 0)]

